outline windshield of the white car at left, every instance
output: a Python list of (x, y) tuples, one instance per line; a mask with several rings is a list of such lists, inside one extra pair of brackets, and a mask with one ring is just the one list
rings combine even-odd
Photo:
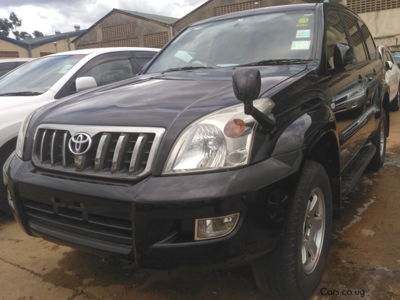
[(49, 56), (28, 62), (1, 78), (0, 96), (41, 94), (84, 56)]

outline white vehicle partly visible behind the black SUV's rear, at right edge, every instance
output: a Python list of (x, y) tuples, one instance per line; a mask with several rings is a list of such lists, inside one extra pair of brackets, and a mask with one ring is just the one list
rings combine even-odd
[(385, 81), (389, 86), (390, 110), (397, 111), (400, 108), (400, 68), (394, 61), (388, 48), (379, 45), (379, 57), (383, 61), (386, 70)]

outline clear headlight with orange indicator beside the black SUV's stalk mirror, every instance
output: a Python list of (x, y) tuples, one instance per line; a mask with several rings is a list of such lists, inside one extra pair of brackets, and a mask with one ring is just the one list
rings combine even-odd
[[(274, 106), (260, 98), (254, 106), (268, 113)], [(257, 122), (236, 104), (207, 114), (187, 126), (168, 155), (163, 173), (232, 168), (248, 163)]]

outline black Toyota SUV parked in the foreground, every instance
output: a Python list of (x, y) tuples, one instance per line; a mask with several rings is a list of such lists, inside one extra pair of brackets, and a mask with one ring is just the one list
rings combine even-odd
[(20, 129), (4, 180), (25, 232), (144, 268), (251, 263), (285, 298), (313, 293), (343, 195), (385, 156), (384, 67), (340, 4), (199, 21), (88, 93)]

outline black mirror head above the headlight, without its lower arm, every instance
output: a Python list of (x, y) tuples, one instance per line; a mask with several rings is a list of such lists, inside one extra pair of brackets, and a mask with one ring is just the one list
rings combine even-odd
[(261, 90), (261, 74), (258, 69), (243, 68), (232, 75), (234, 95), (244, 104), (244, 113), (253, 112), (253, 101), (258, 98)]

